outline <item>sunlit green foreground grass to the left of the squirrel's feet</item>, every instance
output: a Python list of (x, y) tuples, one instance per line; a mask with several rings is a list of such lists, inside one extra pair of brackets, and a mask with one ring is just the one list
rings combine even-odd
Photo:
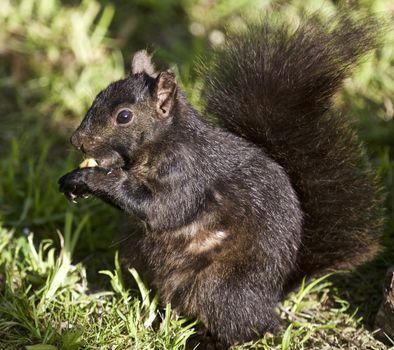
[(68, 215), (57, 253), (51, 240), (36, 247), (33, 234), (16, 238), (2, 229), (0, 247), (7, 254), (1, 264), (10, 283), (0, 298), (0, 344), (36, 350), (183, 349), (193, 323), (172, 315), (169, 306), (159, 311), (157, 298), (151, 298), (135, 271), (139, 295), (124, 288), (118, 264), (113, 272), (100, 271), (111, 289), (89, 291), (84, 266), (71, 263), (84, 223), (71, 232), (71, 220)]

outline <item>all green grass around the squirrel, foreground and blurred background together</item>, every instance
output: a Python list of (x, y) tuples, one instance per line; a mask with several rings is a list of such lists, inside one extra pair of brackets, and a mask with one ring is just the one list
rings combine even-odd
[[(393, 17), (389, 0), (360, 3)], [(160, 305), (135, 271), (122, 277), (122, 215), (95, 199), (71, 205), (56, 182), (81, 158), (68, 144), (71, 131), (95, 94), (128, 69), (132, 51), (152, 45), (199, 106), (196, 58), (213, 31), (256, 19), (256, 6), (290, 21), (303, 10), (337, 11), (328, 0), (0, 2), (0, 349), (184, 349), (194, 320)], [(394, 348), (373, 328), (394, 261), (393, 66), (388, 33), (337, 98), (388, 193), (384, 251), (352, 274), (303, 284), (278, 306), (283, 333), (239, 349)], [(138, 290), (122, 282), (130, 277)]]

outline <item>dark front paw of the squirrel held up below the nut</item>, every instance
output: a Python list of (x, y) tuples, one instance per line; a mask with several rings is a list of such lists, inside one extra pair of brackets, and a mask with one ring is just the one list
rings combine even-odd
[(58, 181), (59, 191), (73, 203), (76, 203), (78, 197), (86, 197), (90, 193), (88, 176), (93, 170), (93, 168), (76, 169), (63, 175)]

